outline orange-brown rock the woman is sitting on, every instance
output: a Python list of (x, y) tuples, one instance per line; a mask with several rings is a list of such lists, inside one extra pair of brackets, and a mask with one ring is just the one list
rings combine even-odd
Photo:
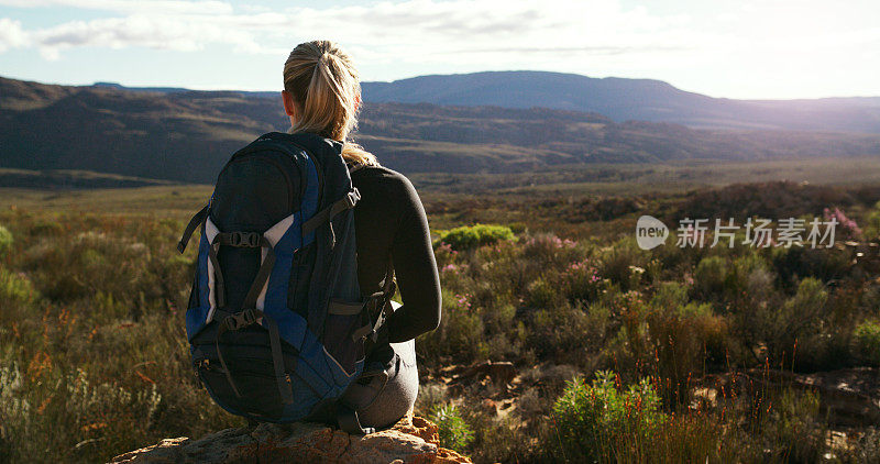
[(407, 416), (394, 427), (350, 435), (318, 423), (261, 423), (202, 437), (165, 439), (113, 457), (111, 463), (470, 463), (439, 446), (437, 426)]

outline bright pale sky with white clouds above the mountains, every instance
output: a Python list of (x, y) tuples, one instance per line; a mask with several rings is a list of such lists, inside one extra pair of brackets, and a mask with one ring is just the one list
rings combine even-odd
[(551, 70), (727, 98), (880, 96), (878, 0), (0, 0), (0, 76), (280, 90), (339, 42), (362, 80)]

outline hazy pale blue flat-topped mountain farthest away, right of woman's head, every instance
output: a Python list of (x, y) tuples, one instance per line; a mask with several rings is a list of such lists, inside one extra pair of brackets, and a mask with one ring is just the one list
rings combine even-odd
[(618, 122), (880, 133), (880, 97), (732, 100), (680, 90), (661, 80), (546, 71), (420, 76), (366, 82), (363, 92), (371, 102), (544, 107), (597, 112)]

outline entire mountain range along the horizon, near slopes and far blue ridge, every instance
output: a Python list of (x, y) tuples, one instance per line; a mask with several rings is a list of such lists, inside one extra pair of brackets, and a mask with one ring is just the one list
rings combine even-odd
[[(447, 86), (435, 76), (364, 84), (365, 104), (356, 140), (376, 153), (383, 164), (404, 173), (513, 173), (590, 163), (880, 154), (880, 130), (870, 130), (869, 120), (861, 121), (864, 125), (845, 124), (857, 120), (851, 114), (858, 111), (875, 114), (880, 108), (876, 99), (811, 101), (809, 106), (815, 108), (845, 108), (838, 113), (851, 113), (835, 119), (837, 125), (827, 123), (812, 131), (793, 130), (799, 124), (796, 119), (780, 119), (779, 126), (761, 130), (744, 129), (745, 123), (694, 129), (669, 121), (634, 121), (620, 114), (667, 111), (706, 121), (708, 117), (700, 114), (713, 104), (736, 103), (737, 108), (758, 110), (747, 102), (717, 102), (659, 81), (625, 82), (626, 79), (586, 80), (597, 86), (617, 86), (618, 90), (608, 90), (602, 98), (575, 99), (575, 87), (571, 87), (570, 93), (542, 101), (535, 96), (544, 92), (549, 98), (552, 92), (546, 89), (564, 75), (548, 74), (548, 82), (540, 86), (532, 81), (531, 93), (526, 90), (529, 79), (536, 77), (532, 73), (495, 74), (495, 87), (505, 91), (488, 89), (487, 76), (493, 74), (471, 75), (475, 79), (472, 89), (460, 80), (461, 76), (448, 76)], [(581, 78), (590, 79), (569, 76), (562, 81)], [(580, 91), (586, 96), (600, 92), (597, 88), (584, 86)], [(563, 93), (571, 98), (562, 98)], [(468, 95), (472, 99), (463, 101)], [(501, 101), (505, 95), (507, 101)], [(392, 98), (410, 101), (383, 102)], [(413, 102), (430, 99), (435, 101)], [(688, 107), (689, 99), (704, 104)], [(612, 108), (615, 100), (620, 102), (616, 110)], [(606, 114), (586, 111), (588, 108), (575, 104), (579, 101), (605, 104)], [(667, 110), (659, 109), (660, 103), (639, 106), (637, 101), (666, 101)], [(779, 104), (789, 103), (798, 102)], [(765, 111), (767, 119), (784, 114), (774, 109), (776, 102), (749, 104), (769, 108)], [(550, 108), (553, 106), (569, 108)], [(678, 113), (671, 108), (678, 108)], [(712, 111), (721, 114), (721, 110)], [(828, 110), (823, 114), (837, 113)], [(733, 115), (727, 120), (733, 121)], [(284, 130), (286, 125), (289, 122), (274, 92), (127, 89), (111, 84), (73, 87), (0, 78), (0, 167), (6, 168), (81, 169), (211, 183), (231, 153), (261, 133)]]

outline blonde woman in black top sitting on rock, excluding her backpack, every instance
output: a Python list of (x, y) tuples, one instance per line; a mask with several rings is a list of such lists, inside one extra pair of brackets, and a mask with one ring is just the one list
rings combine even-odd
[(383, 325), (366, 360), (365, 372), (378, 375), (364, 376), (344, 396), (364, 427), (388, 427), (416, 401), (414, 339), (440, 323), (440, 277), (428, 219), (409, 179), (346, 141), (358, 123), (361, 85), (351, 57), (337, 44), (297, 45), (284, 65), (282, 98), (292, 133), (312, 132), (344, 143), (342, 157), (361, 192), (354, 217), (364, 296), (381, 290), (388, 259), (394, 265), (403, 306)]

